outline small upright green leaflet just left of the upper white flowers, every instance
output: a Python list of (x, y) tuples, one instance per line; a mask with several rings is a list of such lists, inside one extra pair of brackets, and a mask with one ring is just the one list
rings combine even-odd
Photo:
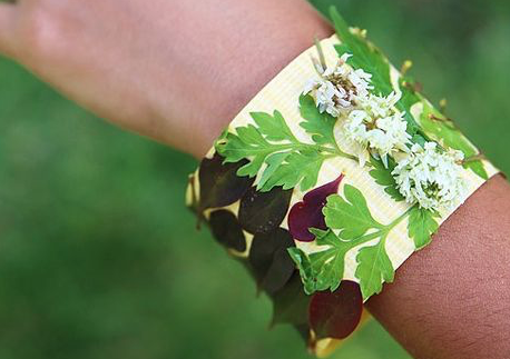
[(315, 100), (310, 94), (302, 94), (300, 97), (300, 111), (305, 120), (301, 122), (300, 126), (312, 134), (312, 139), (315, 143), (328, 143), (336, 147), (336, 140), (333, 132), (336, 122), (334, 117), (326, 112), (318, 112)]

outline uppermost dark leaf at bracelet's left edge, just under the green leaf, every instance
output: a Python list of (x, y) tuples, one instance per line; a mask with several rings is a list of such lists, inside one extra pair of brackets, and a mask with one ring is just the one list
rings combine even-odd
[(199, 211), (207, 208), (224, 207), (237, 201), (252, 186), (253, 179), (238, 177), (237, 170), (248, 161), (223, 163), (223, 158), (215, 154), (202, 160), (198, 171), (200, 198)]

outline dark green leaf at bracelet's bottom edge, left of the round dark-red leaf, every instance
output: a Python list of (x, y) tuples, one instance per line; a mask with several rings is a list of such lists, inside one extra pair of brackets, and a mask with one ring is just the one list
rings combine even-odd
[(272, 296), (272, 325), (292, 323), (302, 327), (308, 323), (311, 298), (304, 293), (297, 271), (293, 273), (284, 288)]

